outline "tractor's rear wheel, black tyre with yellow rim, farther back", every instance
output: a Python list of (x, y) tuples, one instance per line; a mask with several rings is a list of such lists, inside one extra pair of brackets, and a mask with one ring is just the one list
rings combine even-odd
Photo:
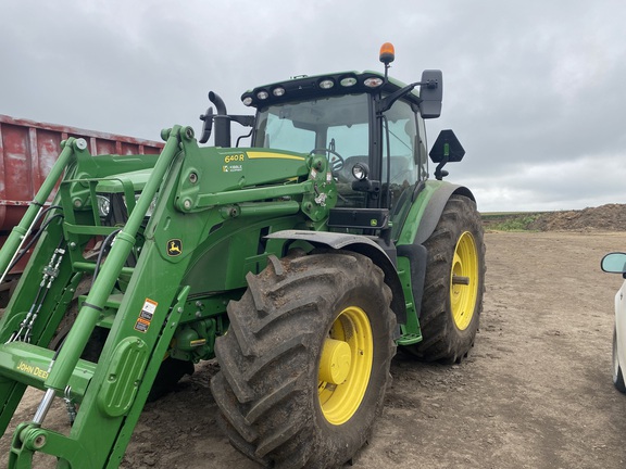
[(460, 363), (474, 346), (485, 290), (485, 243), (476, 204), (452, 195), (424, 245), (424, 340), (403, 350), (426, 362)]

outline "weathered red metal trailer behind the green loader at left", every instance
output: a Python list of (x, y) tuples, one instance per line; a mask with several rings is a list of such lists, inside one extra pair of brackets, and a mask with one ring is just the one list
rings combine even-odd
[[(61, 141), (67, 137), (84, 138), (93, 155), (159, 154), (163, 148), (162, 142), (0, 114), (0, 245), (13, 226), (22, 219), (27, 205), (59, 156)], [(26, 259), (27, 256), (7, 276), (0, 292), (11, 288)], [(1, 297), (0, 306), (3, 306)]]

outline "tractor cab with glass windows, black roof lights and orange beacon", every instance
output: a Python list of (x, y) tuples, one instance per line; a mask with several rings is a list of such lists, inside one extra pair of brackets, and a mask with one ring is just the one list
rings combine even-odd
[[(252, 127), (253, 148), (326, 156), (338, 193), (328, 226), (365, 234), (390, 228), (386, 234), (395, 239), (411, 201), (424, 187), (421, 182), (428, 178), (424, 119), (440, 115), (442, 75), (425, 71), (421, 81), (404, 85), (387, 75), (392, 60), (392, 46), (387, 43), (380, 51), (385, 73), (299, 76), (256, 87), (241, 97), (245, 105), (256, 110), (254, 118), (227, 115), (211, 92), (217, 115), (210, 109), (201, 116), (205, 125), (200, 141), (208, 140), (214, 122), (215, 144), (229, 147), (229, 123), (235, 121)], [(451, 130), (447, 132), (446, 141), (460, 147)], [(450, 148), (448, 143), (446, 151)], [(439, 163), (438, 179), (447, 175), (440, 167), (459, 161), (431, 159)]]

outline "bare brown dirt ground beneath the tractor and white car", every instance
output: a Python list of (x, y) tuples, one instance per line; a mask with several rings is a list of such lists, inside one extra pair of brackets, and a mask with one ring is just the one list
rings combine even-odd
[[(471, 356), (454, 366), (397, 356), (384, 415), (352, 467), (624, 467), (626, 396), (611, 382), (622, 278), (599, 264), (626, 250), (626, 233), (487, 232), (486, 244), (485, 309)], [(147, 406), (123, 468), (258, 468), (216, 427), (215, 371), (199, 367)], [(32, 418), (38, 398), (29, 393), (16, 419)], [(61, 408), (49, 416), (65, 419)]]

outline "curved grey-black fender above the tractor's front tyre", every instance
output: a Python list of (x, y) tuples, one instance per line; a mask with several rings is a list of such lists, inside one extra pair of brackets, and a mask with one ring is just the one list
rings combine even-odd
[(306, 241), (314, 246), (327, 246), (335, 250), (352, 251), (367, 256), (385, 274), (385, 283), (391, 289), (391, 309), (398, 324), (406, 322), (404, 292), (396, 268), (396, 251), (385, 251), (373, 239), (361, 234), (336, 233), (329, 231), (283, 230), (268, 234), (268, 239)]

